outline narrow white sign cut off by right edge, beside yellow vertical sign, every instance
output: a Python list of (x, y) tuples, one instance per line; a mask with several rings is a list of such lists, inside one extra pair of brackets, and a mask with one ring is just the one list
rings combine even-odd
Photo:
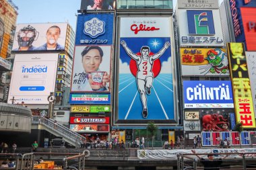
[(253, 96), (253, 108), (256, 116), (256, 52), (246, 52), (247, 67), (251, 84), (251, 95)]

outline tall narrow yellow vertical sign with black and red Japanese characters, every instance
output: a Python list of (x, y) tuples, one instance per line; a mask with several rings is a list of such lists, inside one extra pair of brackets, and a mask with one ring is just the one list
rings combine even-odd
[(228, 43), (230, 75), (234, 94), (236, 122), (243, 128), (255, 128), (253, 98), (243, 43)]

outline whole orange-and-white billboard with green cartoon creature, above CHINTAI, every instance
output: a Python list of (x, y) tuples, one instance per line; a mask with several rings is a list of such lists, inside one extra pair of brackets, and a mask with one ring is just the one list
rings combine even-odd
[(224, 48), (180, 48), (182, 75), (229, 76)]

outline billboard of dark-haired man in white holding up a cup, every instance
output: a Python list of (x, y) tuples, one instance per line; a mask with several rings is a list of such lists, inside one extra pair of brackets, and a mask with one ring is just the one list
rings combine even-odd
[(111, 46), (75, 46), (72, 92), (110, 91)]

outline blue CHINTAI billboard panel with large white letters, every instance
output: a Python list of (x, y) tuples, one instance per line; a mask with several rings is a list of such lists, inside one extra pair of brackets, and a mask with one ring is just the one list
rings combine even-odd
[[(193, 92), (189, 91), (188, 88), (193, 90)], [(205, 88), (205, 90), (203, 90), (203, 88)], [(212, 88), (212, 89), (209, 89), (209, 88)], [(207, 91), (207, 89), (214, 91), (214, 93), (213, 93), (214, 99), (207, 99), (206, 92), (203, 93), (203, 91)], [(193, 97), (195, 90), (200, 91), (201, 99), (199, 99), (199, 95), (197, 95), (197, 99), (195, 99), (195, 97)], [(231, 81), (183, 81), (183, 91), (184, 91), (184, 103), (185, 104), (195, 104), (195, 103), (196, 104), (209, 104), (209, 103), (228, 104), (228, 103), (230, 103), (233, 105), (233, 103), (234, 103), (233, 95), (232, 95)], [(221, 97), (222, 91), (229, 97), (226, 97), (226, 99), (220, 99), (220, 98), (223, 98), (223, 97)], [(191, 97), (193, 97), (193, 99), (191, 99)], [(217, 98), (219, 98), (219, 99), (217, 99)], [(230, 107), (230, 108), (232, 108), (232, 107)]]

